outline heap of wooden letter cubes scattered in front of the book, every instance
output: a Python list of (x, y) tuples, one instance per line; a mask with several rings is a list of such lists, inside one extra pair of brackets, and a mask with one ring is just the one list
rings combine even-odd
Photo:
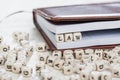
[[(54, 80), (49, 73), (42, 73), (47, 66), (70, 76), (69, 80), (112, 80), (120, 78), (120, 46), (114, 49), (76, 49), (50, 52), (44, 42), (37, 43), (34, 48), (29, 44), (29, 34), (15, 32), (13, 39), (18, 44), (11, 49), (4, 44), (0, 36), (0, 66), (6, 71), (31, 77), (33, 68), (27, 62), (33, 53), (37, 55), (35, 72), (41, 80)], [(0, 80), (12, 80), (11, 76), (0, 70)]]

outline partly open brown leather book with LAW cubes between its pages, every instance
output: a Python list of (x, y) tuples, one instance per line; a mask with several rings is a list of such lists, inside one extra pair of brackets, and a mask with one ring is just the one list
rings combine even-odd
[(51, 50), (120, 44), (120, 2), (38, 8), (33, 19)]

